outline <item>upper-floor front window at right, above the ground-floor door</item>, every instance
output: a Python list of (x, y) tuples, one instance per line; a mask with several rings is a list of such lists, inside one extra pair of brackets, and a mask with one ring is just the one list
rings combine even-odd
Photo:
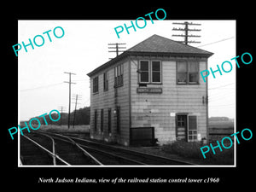
[(198, 73), (197, 61), (177, 61), (177, 84), (198, 84)]

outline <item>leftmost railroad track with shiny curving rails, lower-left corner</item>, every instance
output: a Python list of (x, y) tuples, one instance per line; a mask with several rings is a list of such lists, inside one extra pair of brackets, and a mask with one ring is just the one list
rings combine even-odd
[(22, 165), (101, 165), (72, 139), (67, 141), (51, 137), (46, 133), (30, 133), (20, 138), (20, 160)]

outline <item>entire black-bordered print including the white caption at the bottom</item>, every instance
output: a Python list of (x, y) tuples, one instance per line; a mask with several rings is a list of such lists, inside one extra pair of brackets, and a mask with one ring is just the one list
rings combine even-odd
[(3, 183), (252, 184), (252, 19), (82, 7), (6, 16)]

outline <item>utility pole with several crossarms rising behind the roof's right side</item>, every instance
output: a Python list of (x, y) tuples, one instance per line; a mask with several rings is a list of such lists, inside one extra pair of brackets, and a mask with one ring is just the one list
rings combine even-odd
[(201, 26), (201, 24), (199, 23), (192, 23), (192, 22), (183, 22), (183, 23), (177, 23), (177, 22), (173, 22), (172, 24), (174, 25), (183, 25), (184, 28), (172, 28), (172, 31), (183, 31), (184, 34), (174, 34), (172, 36), (176, 36), (176, 37), (183, 37), (184, 40), (183, 41), (177, 41), (180, 43), (184, 43), (184, 44), (195, 44), (195, 43), (201, 43), (199, 41), (189, 41), (188, 38), (200, 38), (200, 35), (189, 35), (189, 32), (200, 32), (201, 29), (189, 29), (189, 26)]

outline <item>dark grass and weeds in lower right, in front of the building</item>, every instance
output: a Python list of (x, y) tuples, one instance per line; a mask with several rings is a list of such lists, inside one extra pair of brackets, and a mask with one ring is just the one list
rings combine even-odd
[[(195, 159), (199, 164), (204, 165), (233, 165), (234, 164), (234, 148), (222, 148), (221, 152), (219, 148), (215, 148), (215, 153), (212, 153), (212, 149), (205, 154), (206, 159), (201, 154), (201, 143), (187, 143), (184, 141), (176, 141), (173, 143), (165, 144), (160, 149), (166, 153), (178, 154), (185, 158)], [(216, 144), (212, 143), (212, 146)]]

